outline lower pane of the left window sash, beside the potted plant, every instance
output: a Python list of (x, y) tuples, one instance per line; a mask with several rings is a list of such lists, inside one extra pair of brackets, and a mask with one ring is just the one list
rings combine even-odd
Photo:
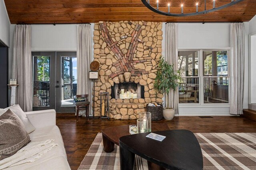
[(182, 77), (179, 86), (179, 103), (199, 103), (199, 78)]

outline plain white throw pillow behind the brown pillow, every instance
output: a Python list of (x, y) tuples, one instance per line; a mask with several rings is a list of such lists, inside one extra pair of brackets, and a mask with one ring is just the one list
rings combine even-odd
[(20, 120), (23, 122), (25, 129), (28, 133), (31, 133), (34, 131), (36, 128), (30, 123), (28, 120), (27, 115), (24, 113), (24, 111), (20, 108), (20, 105), (16, 104), (14, 106), (7, 107), (5, 109), (0, 109), (0, 115), (1, 113), (5, 113), (8, 109), (11, 109), (12, 112), (14, 112)]

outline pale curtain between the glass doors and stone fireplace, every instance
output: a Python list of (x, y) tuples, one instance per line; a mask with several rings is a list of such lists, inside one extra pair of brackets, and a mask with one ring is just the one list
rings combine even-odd
[[(77, 25), (77, 94), (88, 94), (90, 102), (89, 114), (92, 108), (92, 87), (89, 80), (91, 63), (91, 28), (90, 24)], [(81, 113), (79, 113), (81, 114)]]

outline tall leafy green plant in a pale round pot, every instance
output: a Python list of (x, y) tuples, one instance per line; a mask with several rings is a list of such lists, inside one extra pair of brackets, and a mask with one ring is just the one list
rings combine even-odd
[(174, 118), (175, 111), (173, 108), (169, 107), (169, 92), (172, 89), (175, 91), (180, 85), (180, 72), (174, 69), (173, 64), (168, 64), (164, 60), (163, 56), (161, 56), (158, 68), (154, 88), (162, 94), (167, 94), (167, 107), (163, 108), (163, 116), (164, 119), (172, 120)]

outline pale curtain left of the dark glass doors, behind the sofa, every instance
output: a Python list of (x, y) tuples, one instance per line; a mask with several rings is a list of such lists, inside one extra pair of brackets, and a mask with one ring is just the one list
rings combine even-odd
[(18, 81), (18, 104), (24, 111), (32, 111), (31, 26), (16, 25), (12, 53), (12, 78)]

